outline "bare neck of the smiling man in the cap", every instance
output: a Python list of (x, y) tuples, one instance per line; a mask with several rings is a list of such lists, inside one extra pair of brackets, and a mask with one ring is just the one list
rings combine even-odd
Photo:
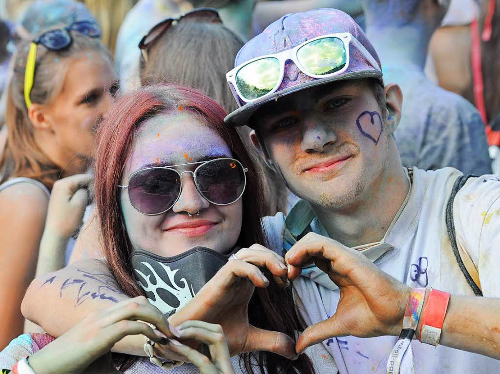
[[(397, 153), (396, 153), (397, 154)], [(355, 247), (381, 240), (401, 207), (410, 184), (399, 157), (365, 189), (355, 206), (328, 210), (313, 207), (330, 238)]]

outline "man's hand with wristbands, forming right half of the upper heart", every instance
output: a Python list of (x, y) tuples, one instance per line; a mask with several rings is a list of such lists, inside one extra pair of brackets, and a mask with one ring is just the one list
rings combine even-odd
[(337, 310), (329, 319), (309, 326), (299, 336), (296, 350), (328, 338), (398, 335), (409, 297), (409, 287), (373, 265), (365, 256), (333, 239), (308, 233), (285, 255), (288, 279), (298, 278), (302, 264), (312, 259), (340, 290)]

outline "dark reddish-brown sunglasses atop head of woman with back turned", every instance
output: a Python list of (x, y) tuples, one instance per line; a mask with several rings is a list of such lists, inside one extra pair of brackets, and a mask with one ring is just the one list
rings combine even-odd
[(163, 35), (171, 25), (175, 25), (180, 20), (205, 23), (222, 23), (217, 9), (208, 7), (189, 10), (188, 12), (181, 14), (176, 18), (163, 19), (161, 22), (155, 24), (149, 31), (147, 31), (147, 34), (145, 34), (139, 41), (139, 49), (145, 62), (147, 62), (147, 48), (161, 35)]

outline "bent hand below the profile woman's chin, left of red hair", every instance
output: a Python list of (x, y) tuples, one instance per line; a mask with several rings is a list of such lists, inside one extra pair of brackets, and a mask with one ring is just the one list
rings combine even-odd
[(50, 193), (45, 230), (61, 238), (69, 238), (81, 225), (89, 203), (90, 174), (75, 174), (57, 180)]

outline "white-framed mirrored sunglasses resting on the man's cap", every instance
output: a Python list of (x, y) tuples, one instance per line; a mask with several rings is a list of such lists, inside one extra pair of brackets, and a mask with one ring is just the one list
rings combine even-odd
[(287, 60), (292, 60), (300, 71), (311, 78), (327, 78), (343, 73), (349, 67), (349, 44), (375, 69), (380, 70), (373, 56), (350, 32), (337, 32), (306, 40), (278, 53), (252, 58), (230, 70), (226, 79), (238, 104), (240, 100), (252, 102), (278, 89)]

